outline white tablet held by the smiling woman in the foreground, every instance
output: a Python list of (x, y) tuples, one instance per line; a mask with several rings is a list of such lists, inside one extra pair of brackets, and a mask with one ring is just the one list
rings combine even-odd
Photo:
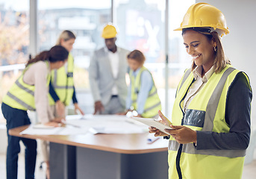
[(164, 129), (172, 129), (168, 125), (163, 125), (163, 123), (158, 122), (157, 119), (140, 118), (140, 117), (131, 117), (131, 119), (134, 119), (138, 122), (142, 122), (145, 125), (149, 125), (149, 127), (157, 128), (159, 129), (159, 131), (162, 131), (163, 133), (166, 133)]

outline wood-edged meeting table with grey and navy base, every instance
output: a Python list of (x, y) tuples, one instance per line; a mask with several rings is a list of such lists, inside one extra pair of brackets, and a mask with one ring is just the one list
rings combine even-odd
[(51, 178), (168, 178), (168, 141), (164, 139), (147, 144), (148, 134), (19, 134), (26, 128), (13, 128), (9, 134), (50, 142)]

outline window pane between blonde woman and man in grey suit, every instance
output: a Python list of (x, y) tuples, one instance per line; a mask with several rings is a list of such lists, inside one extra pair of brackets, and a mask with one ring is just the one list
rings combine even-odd
[(63, 30), (73, 31), (76, 35), (72, 50), (74, 81), (78, 102), (86, 113), (93, 113), (87, 69), (93, 51), (103, 45), (101, 31), (110, 22), (110, 7), (110, 0), (38, 1), (40, 51), (55, 45)]

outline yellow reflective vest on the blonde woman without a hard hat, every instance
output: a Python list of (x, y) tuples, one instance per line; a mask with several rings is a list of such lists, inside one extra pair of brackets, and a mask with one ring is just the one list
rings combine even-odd
[[(51, 71), (51, 85), (54, 87), (54, 91), (66, 106), (69, 105), (73, 93), (74, 93), (74, 82), (73, 82), (73, 70), (74, 70), (74, 58), (72, 54), (69, 53), (66, 66), (60, 67), (60, 69), (55, 69)], [(51, 98), (49, 94), (49, 104), (54, 105), (55, 101)]]

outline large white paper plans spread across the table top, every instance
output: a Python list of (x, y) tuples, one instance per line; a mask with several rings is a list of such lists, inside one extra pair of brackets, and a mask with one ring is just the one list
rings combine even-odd
[(143, 123), (120, 115), (81, 115), (66, 116), (65, 127), (31, 125), (21, 134), (31, 135), (76, 135), (86, 134), (141, 134), (149, 127)]

